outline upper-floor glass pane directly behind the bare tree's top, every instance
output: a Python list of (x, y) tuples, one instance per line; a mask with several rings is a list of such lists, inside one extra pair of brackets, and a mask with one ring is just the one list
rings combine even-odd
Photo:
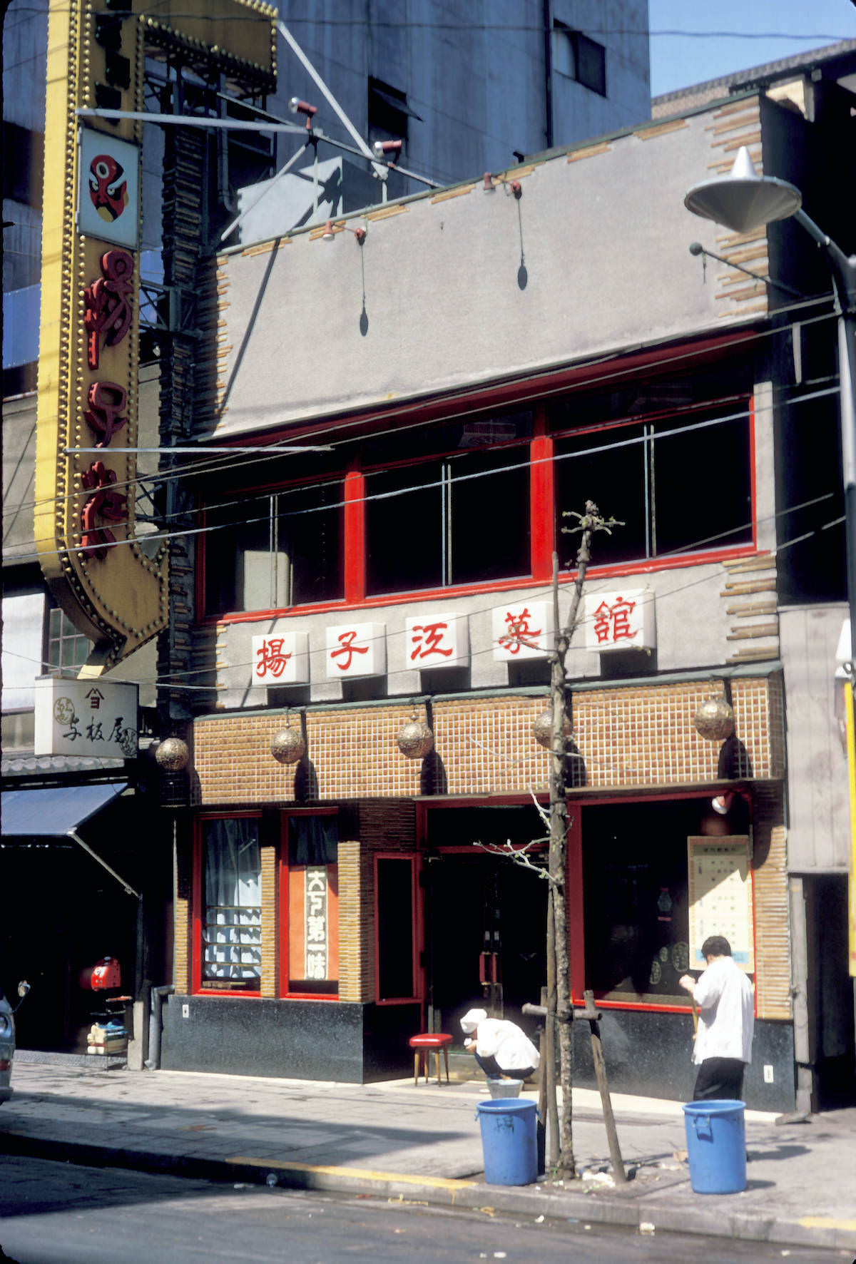
[[(584, 513), (594, 501), (604, 517), (625, 525), (612, 535), (598, 532), (592, 542), (592, 565), (609, 566), (647, 556), (646, 444), (642, 426), (614, 426), (556, 439), (556, 531), (573, 527), (563, 512)], [(579, 535), (558, 535), (561, 566), (573, 565)]]

